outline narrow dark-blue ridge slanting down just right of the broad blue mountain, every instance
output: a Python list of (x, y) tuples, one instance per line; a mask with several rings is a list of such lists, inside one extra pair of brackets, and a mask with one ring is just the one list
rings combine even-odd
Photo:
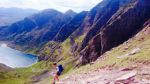
[(65, 24), (57, 36), (54, 38), (54, 41), (63, 42), (65, 41), (76, 29), (78, 29), (86, 16), (87, 12), (83, 11), (77, 14), (69, 23)]

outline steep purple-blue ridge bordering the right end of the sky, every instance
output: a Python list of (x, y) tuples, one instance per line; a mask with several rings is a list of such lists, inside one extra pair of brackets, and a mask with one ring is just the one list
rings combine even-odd
[(92, 8), (87, 13), (81, 26), (74, 32), (73, 35), (81, 36), (83, 34), (86, 34), (91, 29), (91, 27), (95, 25), (95, 23), (101, 16), (106, 15), (103, 12), (106, 11), (106, 5), (108, 5), (109, 1), (111, 0), (103, 0), (101, 3)]

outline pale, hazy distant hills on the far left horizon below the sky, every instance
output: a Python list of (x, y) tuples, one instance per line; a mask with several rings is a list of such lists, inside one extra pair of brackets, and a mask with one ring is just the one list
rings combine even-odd
[(10, 25), (37, 12), (33, 9), (0, 8), (0, 26)]

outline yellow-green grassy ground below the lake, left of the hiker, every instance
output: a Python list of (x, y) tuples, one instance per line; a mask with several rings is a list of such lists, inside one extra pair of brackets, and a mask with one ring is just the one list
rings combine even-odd
[(0, 73), (0, 84), (30, 84), (32, 77), (51, 70), (52, 63), (41, 61), (28, 68), (16, 68), (15, 70)]

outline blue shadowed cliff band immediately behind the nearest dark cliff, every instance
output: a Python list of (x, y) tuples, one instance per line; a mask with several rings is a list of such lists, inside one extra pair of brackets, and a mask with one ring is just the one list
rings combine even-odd
[[(88, 42), (100, 31), (101, 27), (104, 26), (112, 15), (117, 12), (120, 5), (120, 0), (104, 0), (91, 10), (89, 15), (92, 15), (93, 17), (91, 17), (92, 19), (89, 21), (92, 21), (92, 25), (88, 28), (88, 32), (82, 42), (80, 50), (86, 47)], [(95, 10), (97, 10), (96, 14), (92, 14)], [(89, 21), (85, 22), (85, 24), (89, 23)]]

